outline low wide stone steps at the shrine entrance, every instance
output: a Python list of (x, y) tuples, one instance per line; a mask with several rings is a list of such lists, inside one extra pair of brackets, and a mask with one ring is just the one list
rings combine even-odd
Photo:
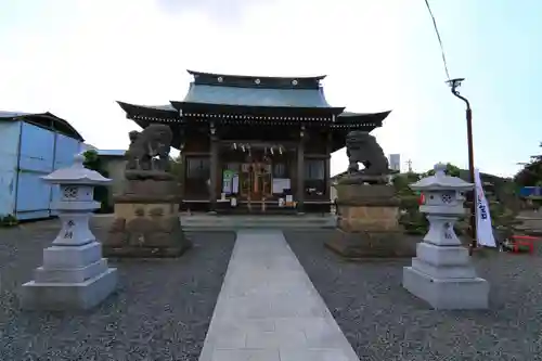
[(337, 223), (333, 215), (182, 215), (183, 230), (236, 231), (241, 229), (314, 230), (334, 229)]

